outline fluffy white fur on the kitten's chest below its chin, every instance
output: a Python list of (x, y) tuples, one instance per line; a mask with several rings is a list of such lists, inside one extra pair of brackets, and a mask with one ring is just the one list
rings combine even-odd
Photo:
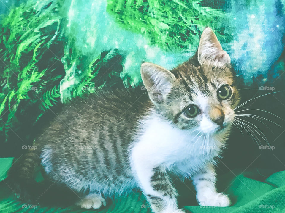
[(198, 129), (180, 130), (158, 116), (142, 120), (141, 134), (134, 142), (132, 158), (149, 167), (164, 166), (174, 173), (190, 175), (220, 152), (222, 143)]

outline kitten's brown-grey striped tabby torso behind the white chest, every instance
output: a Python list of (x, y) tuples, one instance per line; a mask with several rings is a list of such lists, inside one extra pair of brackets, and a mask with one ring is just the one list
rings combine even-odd
[(140, 88), (102, 90), (71, 102), (36, 139), (45, 171), (78, 192), (123, 193), (133, 182), (131, 138), (150, 106)]

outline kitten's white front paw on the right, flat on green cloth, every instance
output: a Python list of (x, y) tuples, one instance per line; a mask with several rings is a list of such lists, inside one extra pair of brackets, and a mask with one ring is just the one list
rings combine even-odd
[(226, 207), (231, 204), (229, 197), (224, 193), (213, 193), (207, 196), (198, 196), (197, 200), (200, 206), (219, 206)]

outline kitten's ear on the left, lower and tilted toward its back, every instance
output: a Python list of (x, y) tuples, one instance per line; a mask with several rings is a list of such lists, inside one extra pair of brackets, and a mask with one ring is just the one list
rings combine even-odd
[(162, 103), (170, 92), (175, 76), (167, 69), (148, 62), (141, 65), (140, 74), (153, 104)]

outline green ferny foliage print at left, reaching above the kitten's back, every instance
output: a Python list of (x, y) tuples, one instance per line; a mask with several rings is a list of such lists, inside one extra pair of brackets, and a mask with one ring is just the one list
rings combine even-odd
[(2, 17), (0, 143), (31, 143), (39, 118), (54, 115), (60, 102), (102, 86), (123, 86), (123, 54), (109, 49), (88, 62), (76, 40), (66, 37), (67, 12), (61, 1), (30, 0)]

